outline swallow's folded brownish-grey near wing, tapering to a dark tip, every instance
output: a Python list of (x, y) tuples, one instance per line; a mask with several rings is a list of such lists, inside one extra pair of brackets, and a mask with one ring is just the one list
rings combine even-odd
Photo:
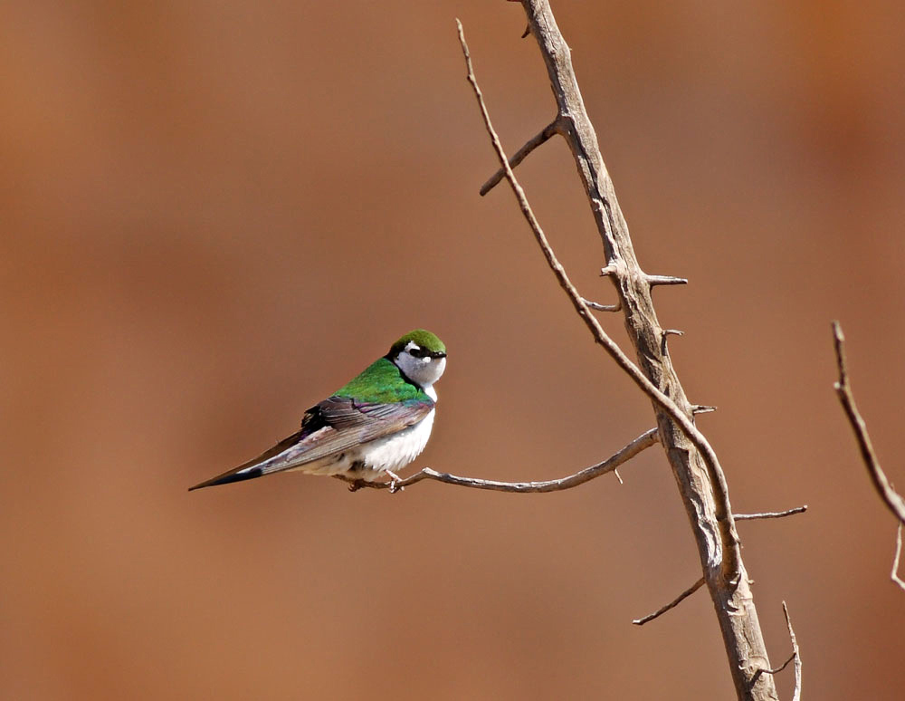
[(192, 489), (224, 485), (307, 465), (362, 443), (392, 435), (418, 423), (432, 409), (433, 401), (429, 399), (378, 404), (356, 403), (348, 397), (330, 397), (305, 412), (300, 431), (284, 438), (260, 456)]

